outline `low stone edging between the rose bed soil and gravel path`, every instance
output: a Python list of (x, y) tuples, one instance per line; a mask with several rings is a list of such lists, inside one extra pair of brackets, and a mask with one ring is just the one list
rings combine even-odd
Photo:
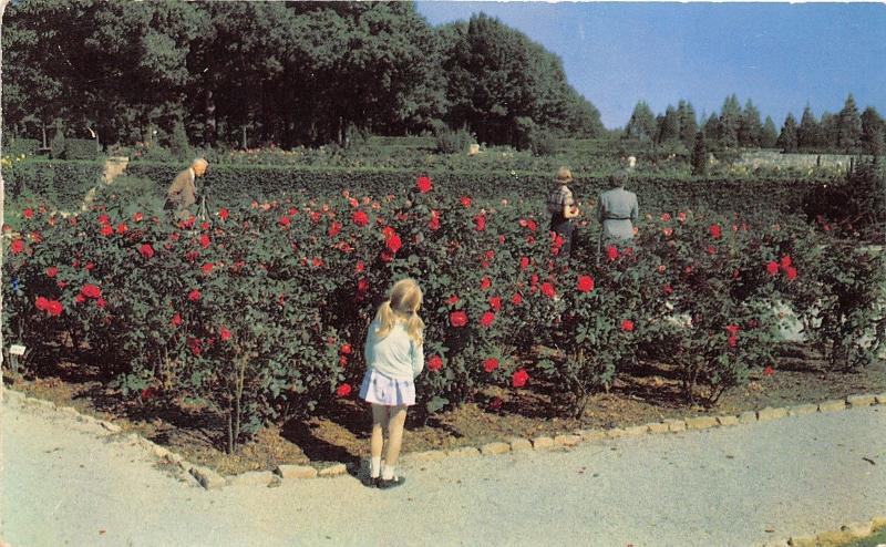
[[(143, 446), (150, 454), (156, 457), (159, 463), (172, 466), (173, 474), (183, 482), (196, 482), (206, 489), (215, 489), (229, 485), (255, 485), (255, 486), (277, 486), (282, 479), (293, 478), (317, 478), (343, 475), (357, 471), (357, 464), (337, 463), (323, 467), (315, 465), (280, 465), (274, 472), (250, 471), (239, 475), (224, 477), (215, 471), (192, 464), (181, 455), (152, 443), (137, 433), (124, 434), (122, 429), (105, 420), (97, 420), (79, 413), (71, 406), (56, 406), (54, 403), (41, 399), (30, 398), (23, 393), (2, 389), (3, 399), (8, 399), (13, 404), (32, 406), (43, 410), (55, 411), (66, 414), (70, 417), (86, 424), (93, 424), (99, 432), (105, 435), (116, 435), (125, 441)], [(437, 450), (426, 452), (406, 453), (401, 456), (404, 463), (435, 462), (446, 457), (476, 457), (494, 456), (509, 452), (527, 451), (552, 451), (565, 450), (580, 443), (601, 441), (607, 438), (639, 437), (647, 434), (676, 433), (682, 431), (707, 430), (711, 427), (727, 427), (753, 422), (769, 422), (787, 416), (801, 416), (814, 414), (816, 412), (837, 412), (847, 407), (886, 405), (886, 393), (878, 394), (857, 394), (848, 395), (846, 399), (833, 399), (818, 404), (800, 404), (794, 406), (780, 406), (761, 409), (759, 411), (746, 411), (738, 415), (727, 414), (720, 416), (692, 416), (684, 420), (668, 419), (662, 422), (648, 423), (645, 425), (633, 425), (627, 427), (610, 427), (600, 430), (577, 430), (571, 433), (563, 433), (555, 436), (536, 436), (532, 438), (512, 437), (498, 442), (486, 443), (482, 446), (461, 446), (452, 450)], [(878, 522), (879, 523), (879, 522)], [(875, 527), (886, 526), (886, 522), (879, 523)], [(848, 526), (848, 525), (847, 525)], [(873, 526), (873, 524), (872, 524)], [(800, 541), (802, 538), (797, 538)], [(787, 540), (786, 540), (787, 541)], [(770, 544), (765, 544), (770, 545)], [(773, 543), (785, 545), (784, 543)], [(805, 546), (813, 544), (791, 544), (794, 546)]]

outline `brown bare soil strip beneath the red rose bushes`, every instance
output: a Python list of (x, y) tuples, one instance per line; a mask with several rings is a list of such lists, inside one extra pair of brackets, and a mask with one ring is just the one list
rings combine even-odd
[[(182, 402), (142, 402), (105, 389), (82, 368), (59, 376), (25, 378), (6, 374), (4, 382), (30, 395), (80, 412), (113, 420), (169, 447), (185, 458), (225, 474), (272, 469), (279, 464), (349, 462), (368, 454), (369, 413), (356, 399), (320, 409), (308, 421), (292, 420), (270, 427), (241, 445), (235, 454), (219, 451), (220, 431), (200, 409)], [(712, 409), (689, 406), (679, 396), (674, 373), (666, 367), (642, 367), (619, 378), (609, 393), (587, 402), (580, 420), (563, 417), (566, 401), (550, 385), (533, 380), (525, 389), (491, 388), (460, 409), (418, 424), (411, 419), (404, 452), (478, 446), (512, 436), (554, 435), (577, 429), (639, 425), (667, 417), (738, 414), (765, 406), (816, 403), (853, 393), (886, 392), (886, 363), (852, 373), (825, 372), (821, 362), (783, 357), (771, 375), (752, 372), (751, 381), (728, 391)]]

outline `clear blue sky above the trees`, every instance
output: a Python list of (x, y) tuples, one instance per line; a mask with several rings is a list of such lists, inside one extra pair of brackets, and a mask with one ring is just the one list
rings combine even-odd
[(483, 11), (559, 55), (569, 83), (624, 126), (638, 100), (701, 115), (751, 99), (781, 127), (806, 104), (886, 115), (886, 4), (419, 1), (431, 24)]

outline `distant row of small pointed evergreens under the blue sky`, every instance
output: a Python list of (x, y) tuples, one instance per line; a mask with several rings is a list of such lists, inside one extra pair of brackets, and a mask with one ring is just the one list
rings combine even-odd
[(771, 116), (761, 122), (760, 110), (750, 99), (742, 107), (735, 94), (725, 99), (720, 112), (701, 116), (701, 124), (689, 101), (668, 105), (655, 115), (645, 101), (633, 107), (622, 138), (655, 145), (683, 144), (687, 149), (723, 151), (729, 148), (782, 148), (784, 152), (817, 152), (879, 155), (884, 151), (886, 122), (876, 109), (858, 112), (849, 94), (843, 109), (825, 112), (816, 118), (806, 105), (800, 124), (789, 113), (776, 130)]

